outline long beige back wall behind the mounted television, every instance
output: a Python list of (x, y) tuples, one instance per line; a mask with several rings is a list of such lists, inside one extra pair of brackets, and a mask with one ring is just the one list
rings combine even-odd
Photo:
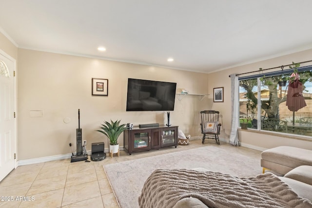
[[(208, 75), (87, 57), (60, 55), (19, 49), (18, 133), (19, 160), (70, 153), (69, 143), (76, 147), (78, 109), (82, 139), (91, 143), (106, 137), (95, 130), (103, 120), (121, 119), (134, 125), (163, 124), (164, 112), (126, 112), (128, 78), (176, 82), (177, 88), (191, 93), (208, 93)], [(108, 79), (108, 96), (91, 95), (91, 79)], [(178, 96), (178, 95), (177, 95)], [(200, 110), (209, 109), (209, 99), (188, 95), (171, 112), (172, 124), (186, 134), (198, 132)], [(31, 111), (42, 111), (42, 117), (31, 117)], [(70, 123), (64, 123), (70, 118)], [(123, 135), (119, 137), (123, 146)]]

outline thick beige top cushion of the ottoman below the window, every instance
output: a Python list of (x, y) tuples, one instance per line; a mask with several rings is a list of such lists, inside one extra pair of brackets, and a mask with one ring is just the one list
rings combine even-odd
[(295, 147), (272, 148), (261, 152), (261, 158), (292, 169), (302, 165), (312, 166), (312, 151)]

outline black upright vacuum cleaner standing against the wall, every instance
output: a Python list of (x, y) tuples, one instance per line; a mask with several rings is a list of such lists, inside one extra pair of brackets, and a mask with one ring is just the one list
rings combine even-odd
[[(72, 158), (70, 160), (71, 163), (88, 159), (85, 147), (82, 146), (82, 129), (80, 129), (80, 109), (78, 109), (78, 129), (76, 129), (76, 140), (77, 140), (77, 153), (76, 155), (73, 155), (72, 153)], [(69, 144), (69, 146), (71, 146), (71, 144)]]

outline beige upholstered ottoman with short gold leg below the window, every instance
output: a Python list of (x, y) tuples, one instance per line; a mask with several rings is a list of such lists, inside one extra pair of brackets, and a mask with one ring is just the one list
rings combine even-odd
[(292, 169), (312, 166), (312, 151), (301, 148), (280, 146), (261, 152), (261, 167), (285, 175)]

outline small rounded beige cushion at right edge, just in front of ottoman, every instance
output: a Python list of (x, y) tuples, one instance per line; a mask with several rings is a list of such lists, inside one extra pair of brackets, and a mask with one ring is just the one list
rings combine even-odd
[(299, 166), (286, 173), (284, 177), (312, 185), (312, 166)]

